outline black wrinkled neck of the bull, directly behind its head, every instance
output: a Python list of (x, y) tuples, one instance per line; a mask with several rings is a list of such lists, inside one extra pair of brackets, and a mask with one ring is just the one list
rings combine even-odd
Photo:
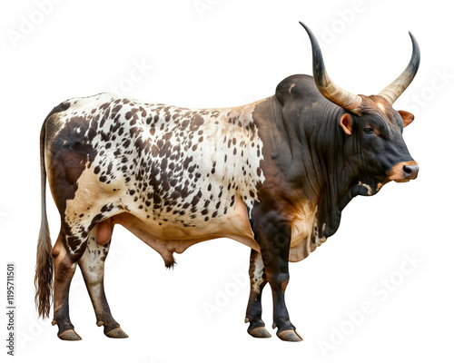
[[(301, 138), (308, 144), (310, 157), (301, 157), (305, 175), (301, 185), (306, 193), (315, 196), (317, 221), (321, 238), (330, 237), (341, 223), (341, 211), (359, 194), (359, 171), (357, 162), (350, 159), (344, 150), (354, 150), (354, 145), (345, 148), (346, 142), (353, 142), (341, 130), (338, 122), (345, 111), (333, 103), (322, 103), (321, 110), (311, 114), (311, 120), (301, 125)], [(318, 115), (318, 116), (314, 116)], [(302, 142), (304, 143), (304, 142)], [(312, 197), (313, 198), (313, 197)]]

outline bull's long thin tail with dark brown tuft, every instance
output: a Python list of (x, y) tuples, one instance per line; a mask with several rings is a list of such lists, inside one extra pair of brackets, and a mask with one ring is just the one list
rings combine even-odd
[[(47, 118), (46, 118), (47, 121)], [(51, 309), (52, 289), (54, 285), (54, 266), (52, 261), (52, 242), (45, 211), (45, 181), (46, 172), (44, 164), (45, 123), (40, 134), (40, 159), (41, 159), (41, 229), (39, 231), (38, 247), (36, 250), (35, 268), (35, 305), (38, 316), (49, 318)]]

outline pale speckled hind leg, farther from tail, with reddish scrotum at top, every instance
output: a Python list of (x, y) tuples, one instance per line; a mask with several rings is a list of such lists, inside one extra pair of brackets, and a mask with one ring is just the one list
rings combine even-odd
[(93, 228), (79, 267), (93, 303), (98, 327), (104, 325), (104, 334), (109, 338), (128, 338), (112, 317), (104, 292), (104, 260), (109, 252), (112, 229), (110, 221), (103, 221)]

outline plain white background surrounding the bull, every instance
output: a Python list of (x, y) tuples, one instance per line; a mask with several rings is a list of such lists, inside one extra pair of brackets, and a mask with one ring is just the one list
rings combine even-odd
[[(14, 261), (15, 361), (452, 361), (454, 32), (448, 2), (59, 3), (24, 0), (0, 8), (0, 313), (5, 317), (6, 262)], [(115, 89), (187, 107), (262, 99), (284, 77), (311, 74), (300, 20), (324, 44), (331, 78), (353, 93), (379, 93), (403, 71), (409, 30), (421, 48), (419, 74), (395, 103), (416, 116), (404, 137), (419, 177), (352, 201), (340, 230), (307, 260), (291, 264), (287, 305), (304, 341), (282, 342), (271, 331), (269, 288), (263, 319), (273, 337), (246, 333), (249, 285), (241, 279), (250, 250), (242, 244), (201, 243), (176, 256), (175, 270), (165, 270), (155, 251), (119, 226), (105, 289), (130, 338), (106, 338), (96, 327), (77, 271), (70, 309), (83, 340), (59, 340), (51, 319), (37, 320), (34, 305), (39, 132), (46, 114), (68, 98)], [(59, 216), (50, 197), (47, 205), (55, 238)], [(358, 312), (368, 304), (367, 314)], [(5, 352), (0, 349), (2, 361)]]

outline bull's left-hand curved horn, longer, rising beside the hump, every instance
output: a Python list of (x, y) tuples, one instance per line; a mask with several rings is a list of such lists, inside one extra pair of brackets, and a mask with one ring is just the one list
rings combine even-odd
[(300, 22), (306, 32), (308, 32), (309, 38), (311, 39), (312, 45), (312, 72), (315, 84), (319, 89), (320, 93), (327, 100), (332, 103), (336, 103), (347, 110), (353, 111), (360, 107), (362, 99), (358, 94), (350, 93), (345, 91), (343, 88), (338, 86), (336, 83), (331, 81), (330, 76), (326, 73), (325, 64), (323, 63), (323, 57), (321, 55), (320, 45), (312, 34), (311, 30)]

